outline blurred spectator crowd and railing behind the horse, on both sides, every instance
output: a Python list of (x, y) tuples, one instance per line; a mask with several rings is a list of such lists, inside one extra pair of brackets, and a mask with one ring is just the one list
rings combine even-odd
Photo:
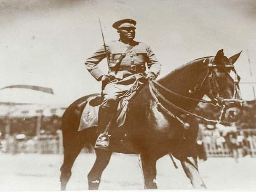
[[(228, 125), (206, 124), (197, 119), (199, 131), (196, 140), (200, 159), (213, 156), (256, 156), (256, 102), (243, 105), (238, 122)], [(63, 110), (64, 112), (64, 110)], [(196, 114), (218, 119), (219, 108), (199, 105)], [(9, 129), (6, 129), (9, 127)], [(7, 131), (8, 130), (8, 131)], [(2, 151), (5, 153), (62, 153), (61, 116), (16, 116), (0, 118)], [(92, 152), (91, 148), (84, 152)]]

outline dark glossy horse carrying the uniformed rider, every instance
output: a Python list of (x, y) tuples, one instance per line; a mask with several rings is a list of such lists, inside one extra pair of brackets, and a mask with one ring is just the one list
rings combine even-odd
[[(180, 160), (194, 188), (206, 188), (198, 172), (196, 157), (190, 154), (198, 127), (189, 126), (189, 119), (191, 116), (200, 117), (192, 112), (199, 102), (209, 102), (219, 106), (221, 112), (218, 122), (209, 120), (212, 123), (237, 120), (242, 101), (238, 85), (240, 77), (234, 63), (240, 53), (228, 58), (222, 49), (215, 56), (190, 61), (157, 81), (146, 82), (130, 100), (123, 126), (110, 127), (109, 150), (95, 149), (96, 160), (87, 175), (88, 188), (99, 188), (102, 172), (113, 152), (140, 155), (145, 189), (157, 188), (156, 161), (167, 154)], [(77, 131), (85, 104), (97, 95), (76, 100), (63, 114), (61, 190), (66, 190), (71, 168), (81, 149), (85, 144), (93, 146), (98, 136), (97, 127)], [(203, 100), (204, 95), (210, 100)], [(182, 116), (188, 119), (187, 122)]]

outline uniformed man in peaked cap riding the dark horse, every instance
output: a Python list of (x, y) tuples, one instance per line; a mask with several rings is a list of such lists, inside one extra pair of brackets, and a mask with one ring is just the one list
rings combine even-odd
[[(128, 91), (140, 77), (156, 79), (161, 70), (161, 64), (147, 44), (134, 41), (136, 21), (124, 19), (116, 21), (113, 28), (117, 29), (120, 38), (109, 42), (94, 52), (85, 61), (85, 66), (91, 75), (102, 82), (103, 102), (99, 109), (98, 133), (95, 148), (107, 149), (108, 134), (102, 133), (116, 114), (118, 99)], [(108, 74), (98, 67), (101, 60), (107, 57)], [(146, 65), (148, 73), (146, 74)]]

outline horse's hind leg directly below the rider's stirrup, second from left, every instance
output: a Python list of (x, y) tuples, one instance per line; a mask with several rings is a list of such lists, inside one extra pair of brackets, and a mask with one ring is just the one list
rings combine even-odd
[(96, 149), (96, 160), (89, 174), (88, 178), (88, 188), (89, 190), (97, 190), (100, 186), (100, 178), (104, 169), (107, 167), (110, 157), (112, 155), (111, 151)]

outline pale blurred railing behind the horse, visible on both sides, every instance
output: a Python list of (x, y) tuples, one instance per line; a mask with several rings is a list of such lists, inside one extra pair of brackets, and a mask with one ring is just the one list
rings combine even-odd
[[(1, 140), (5, 153), (40, 153), (62, 154), (62, 134), (58, 130), (57, 135), (40, 135), (26, 140), (16, 140), (14, 137)], [(256, 157), (256, 129), (247, 129), (234, 132), (235, 139), (223, 137), (219, 132), (204, 135), (202, 141), (207, 157), (230, 157), (234, 150), (239, 156), (250, 155)], [(235, 143), (234, 143), (235, 142)], [(82, 149), (82, 153), (92, 152), (92, 148)]]

